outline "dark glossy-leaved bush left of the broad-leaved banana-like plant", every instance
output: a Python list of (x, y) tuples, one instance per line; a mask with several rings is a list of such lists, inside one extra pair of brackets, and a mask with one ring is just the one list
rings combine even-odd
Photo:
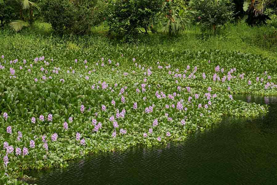
[(125, 41), (136, 39), (140, 27), (147, 33), (148, 27), (157, 23), (157, 13), (163, 0), (113, 0), (110, 2), (108, 25), (110, 32)]

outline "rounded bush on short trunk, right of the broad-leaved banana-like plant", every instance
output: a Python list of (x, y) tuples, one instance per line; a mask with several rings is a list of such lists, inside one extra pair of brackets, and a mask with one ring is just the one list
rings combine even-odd
[(214, 31), (233, 19), (234, 4), (230, 0), (192, 0), (191, 7), (198, 12), (197, 23)]

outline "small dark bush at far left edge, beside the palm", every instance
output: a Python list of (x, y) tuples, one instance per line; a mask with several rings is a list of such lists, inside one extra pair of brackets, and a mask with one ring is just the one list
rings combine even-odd
[(18, 14), (15, 13), (14, 7), (7, 4), (7, 0), (0, 0), (0, 23), (1, 27), (10, 21), (18, 19)]

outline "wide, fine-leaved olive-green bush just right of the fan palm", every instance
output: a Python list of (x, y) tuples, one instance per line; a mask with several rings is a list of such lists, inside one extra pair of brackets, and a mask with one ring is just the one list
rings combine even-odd
[(104, 8), (105, 3), (100, 0), (46, 0), (42, 3), (42, 15), (57, 33), (86, 34), (103, 22)]

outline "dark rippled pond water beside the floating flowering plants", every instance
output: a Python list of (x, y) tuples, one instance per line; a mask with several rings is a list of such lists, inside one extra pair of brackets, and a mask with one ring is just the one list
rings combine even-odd
[(131, 148), (30, 171), (38, 185), (277, 184), (277, 97), (234, 96), (270, 105), (254, 119), (224, 117), (214, 128), (163, 148)]

